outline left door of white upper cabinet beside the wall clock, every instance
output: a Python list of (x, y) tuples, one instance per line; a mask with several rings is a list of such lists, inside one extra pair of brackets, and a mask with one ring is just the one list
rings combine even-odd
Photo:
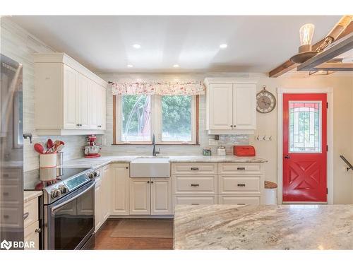
[(211, 84), (209, 93), (209, 128), (229, 130), (233, 125), (233, 85)]

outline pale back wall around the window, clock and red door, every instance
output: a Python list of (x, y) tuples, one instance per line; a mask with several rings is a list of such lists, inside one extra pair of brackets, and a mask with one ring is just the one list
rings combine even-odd
[[(156, 81), (156, 80), (203, 80), (212, 76), (254, 77), (249, 73), (100, 73), (106, 81)], [(277, 88), (333, 88), (334, 106), (334, 203), (353, 203), (353, 172), (345, 170), (339, 155), (345, 155), (353, 162), (353, 76), (300, 76), (281, 78), (257, 78), (257, 89), (267, 86), (277, 96)], [(255, 141), (257, 135), (273, 136), (273, 141)], [(150, 155), (151, 146), (112, 146), (112, 95), (107, 90), (107, 146), (102, 152), (116, 155)], [(203, 147), (208, 146), (205, 131), (205, 97), (200, 97), (200, 146), (161, 146), (164, 155), (200, 155)], [(229, 137), (228, 137), (229, 138)], [(229, 138), (230, 139), (230, 138)], [(264, 164), (265, 179), (277, 182), (277, 107), (268, 114), (257, 113), (256, 134), (249, 136), (249, 142), (256, 147), (257, 156), (268, 159)], [(231, 152), (232, 143), (227, 151)], [(215, 148), (213, 148), (215, 149)]]

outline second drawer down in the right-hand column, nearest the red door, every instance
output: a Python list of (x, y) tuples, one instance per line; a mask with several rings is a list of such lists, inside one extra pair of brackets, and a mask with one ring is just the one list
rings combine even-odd
[(241, 192), (260, 193), (260, 176), (237, 177), (229, 175), (219, 176), (220, 194), (237, 194)]

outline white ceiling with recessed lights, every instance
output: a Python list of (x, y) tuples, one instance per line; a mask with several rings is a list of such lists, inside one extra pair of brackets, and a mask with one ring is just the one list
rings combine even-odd
[[(100, 72), (268, 72), (297, 53), (299, 28), (321, 40), (340, 16), (13, 16), (58, 52)], [(140, 49), (132, 47), (141, 45)], [(227, 49), (220, 45), (227, 43)], [(133, 68), (128, 68), (132, 64)], [(179, 69), (172, 66), (179, 64)]]

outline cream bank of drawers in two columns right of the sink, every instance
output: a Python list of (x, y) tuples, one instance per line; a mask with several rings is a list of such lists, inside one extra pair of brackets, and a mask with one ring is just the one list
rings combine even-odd
[(263, 200), (259, 163), (176, 163), (172, 165), (173, 205), (251, 204)]

